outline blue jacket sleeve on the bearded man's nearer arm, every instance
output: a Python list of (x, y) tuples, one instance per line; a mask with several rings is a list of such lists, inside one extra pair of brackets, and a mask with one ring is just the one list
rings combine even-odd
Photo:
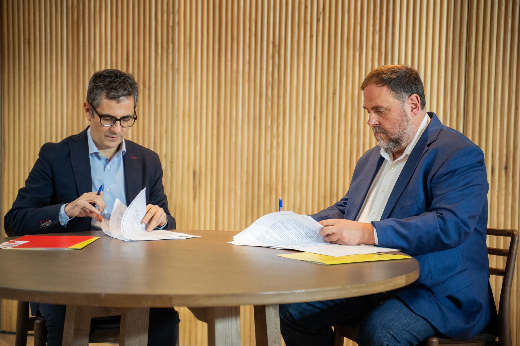
[(431, 196), (428, 212), (372, 222), (379, 246), (410, 255), (459, 246), (474, 231), (480, 214), (487, 212), (488, 188), (482, 150), (475, 146), (459, 149), (431, 177), (431, 191), (425, 191)]

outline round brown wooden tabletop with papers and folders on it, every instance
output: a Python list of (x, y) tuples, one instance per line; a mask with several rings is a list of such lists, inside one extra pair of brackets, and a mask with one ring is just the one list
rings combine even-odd
[(419, 276), (413, 258), (324, 266), (226, 243), (234, 232), (180, 232), (201, 238), (124, 242), (75, 232), (59, 234), (100, 239), (81, 250), (0, 250), (0, 297), (121, 308), (272, 305), (384, 292)]

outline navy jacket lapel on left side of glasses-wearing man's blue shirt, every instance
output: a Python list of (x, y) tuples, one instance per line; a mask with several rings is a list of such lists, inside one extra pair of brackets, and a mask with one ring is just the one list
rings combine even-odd
[[(88, 129), (88, 128), (87, 128)], [(70, 161), (78, 196), (92, 192), (92, 174), (88, 157), (87, 129), (77, 134), (69, 143)]]

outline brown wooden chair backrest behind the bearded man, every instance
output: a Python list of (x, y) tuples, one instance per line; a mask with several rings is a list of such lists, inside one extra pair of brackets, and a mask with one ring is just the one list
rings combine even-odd
[(511, 237), (508, 249), (488, 247), (489, 255), (507, 257), (505, 268), (489, 267), (491, 275), (503, 276), (502, 289), (500, 290), (500, 302), (498, 306), (499, 330), (498, 339), (502, 345), (512, 345), (511, 342), (511, 286), (513, 285), (513, 274), (515, 271), (516, 254), (518, 251), (518, 231), (514, 229), (488, 228), (489, 236)]

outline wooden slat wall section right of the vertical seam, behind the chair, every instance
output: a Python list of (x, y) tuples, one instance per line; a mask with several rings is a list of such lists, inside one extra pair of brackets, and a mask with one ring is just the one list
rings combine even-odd
[[(475, 1), (469, 5), (464, 133), (484, 150), (491, 227), (520, 228), (520, 1)], [(492, 237), (493, 247), (509, 239)], [(505, 260), (490, 257), (504, 268)], [(520, 270), (511, 292), (513, 344), (520, 344)], [(502, 278), (491, 277), (498, 305)]]

